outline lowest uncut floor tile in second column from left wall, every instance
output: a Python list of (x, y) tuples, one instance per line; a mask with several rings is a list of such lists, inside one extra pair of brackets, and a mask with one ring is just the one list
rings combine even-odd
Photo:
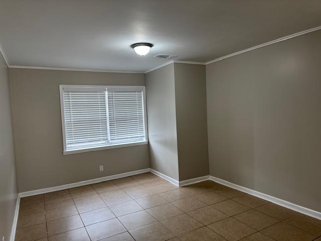
[(70, 231), (83, 226), (84, 225), (79, 215), (57, 219), (47, 222), (48, 236)]

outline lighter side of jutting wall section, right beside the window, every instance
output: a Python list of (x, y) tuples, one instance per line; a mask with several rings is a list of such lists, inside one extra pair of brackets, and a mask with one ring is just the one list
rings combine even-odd
[(145, 74), (150, 167), (179, 180), (174, 64)]

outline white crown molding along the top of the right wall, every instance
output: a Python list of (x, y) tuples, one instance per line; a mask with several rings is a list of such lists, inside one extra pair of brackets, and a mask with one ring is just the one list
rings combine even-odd
[(282, 37), (282, 38), (279, 38), (279, 39), (275, 39), (275, 40), (272, 40), (270, 42), (266, 42), (264, 44), (256, 45), (256, 46), (253, 46), (251, 48), (244, 49), (244, 50), (241, 50), (241, 51), (229, 54), (229, 55), (225, 55), (223, 57), (208, 61), (205, 64), (206, 65), (207, 64), (211, 64), (211, 63), (214, 63), (214, 62), (217, 62), (217, 61), (220, 61), (220, 60), (223, 60), (223, 59), (226, 59), (226, 58), (238, 55), (238, 54), (243, 54), (245, 52), (248, 52), (248, 51), (251, 51), (251, 50), (254, 50), (254, 49), (258, 49), (258, 48), (262, 48), (262, 47), (265, 47), (265, 46), (268, 46), (268, 45), (271, 45), (271, 44), (282, 42), (284, 40), (291, 39), (291, 38), (294, 38), (294, 37), (297, 37), (297, 36), (300, 36), (300, 35), (303, 35), (303, 34), (308, 34), (308, 33), (311, 33), (311, 32), (317, 31), (317, 30), (321, 30), (321, 26), (318, 26), (318, 27), (315, 27), (315, 28), (312, 28), (312, 29), (308, 29), (308, 30), (304, 30), (304, 31), (301, 31), (301, 32), (298, 32), (298, 33), (295, 33), (295, 34), (291, 34), (291, 35), (288, 35), (288, 36), (285, 36), (285, 37)]

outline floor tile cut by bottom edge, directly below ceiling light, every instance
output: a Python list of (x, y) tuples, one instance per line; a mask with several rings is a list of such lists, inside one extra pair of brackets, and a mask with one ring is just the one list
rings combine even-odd
[(129, 231), (136, 241), (165, 241), (175, 235), (163, 224), (156, 222)]

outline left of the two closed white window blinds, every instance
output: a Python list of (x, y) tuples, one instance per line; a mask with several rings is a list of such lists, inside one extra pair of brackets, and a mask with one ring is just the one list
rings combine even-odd
[(67, 150), (107, 144), (105, 91), (64, 91)]

